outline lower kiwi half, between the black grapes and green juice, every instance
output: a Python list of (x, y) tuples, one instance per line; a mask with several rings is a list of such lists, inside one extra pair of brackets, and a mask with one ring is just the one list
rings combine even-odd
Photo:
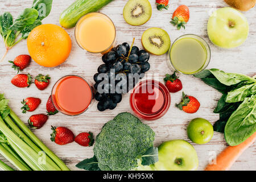
[(144, 49), (154, 55), (163, 55), (171, 46), (170, 36), (162, 28), (148, 28), (144, 31), (141, 42)]

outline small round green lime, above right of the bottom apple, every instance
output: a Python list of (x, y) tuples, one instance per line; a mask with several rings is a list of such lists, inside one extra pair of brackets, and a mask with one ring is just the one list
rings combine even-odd
[(193, 119), (187, 127), (188, 138), (197, 144), (208, 143), (213, 136), (213, 127), (203, 118)]

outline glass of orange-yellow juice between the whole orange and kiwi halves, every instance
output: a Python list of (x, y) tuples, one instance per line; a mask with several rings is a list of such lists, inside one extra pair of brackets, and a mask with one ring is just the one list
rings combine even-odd
[(115, 26), (112, 20), (102, 13), (88, 13), (76, 24), (75, 38), (82, 49), (91, 53), (105, 53), (115, 42)]

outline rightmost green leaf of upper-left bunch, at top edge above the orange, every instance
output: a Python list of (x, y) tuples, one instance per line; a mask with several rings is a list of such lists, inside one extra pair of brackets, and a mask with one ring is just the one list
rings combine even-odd
[(32, 8), (38, 10), (38, 19), (42, 20), (51, 13), (52, 0), (34, 0)]

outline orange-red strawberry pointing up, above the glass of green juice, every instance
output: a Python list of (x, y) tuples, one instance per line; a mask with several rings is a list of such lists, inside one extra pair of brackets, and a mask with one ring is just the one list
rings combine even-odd
[(181, 5), (177, 7), (177, 9), (174, 11), (174, 14), (172, 14), (172, 21), (171, 23), (174, 26), (177, 26), (177, 30), (180, 30), (181, 27), (185, 29), (185, 24), (189, 20), (189, 10), (186, 5)]

